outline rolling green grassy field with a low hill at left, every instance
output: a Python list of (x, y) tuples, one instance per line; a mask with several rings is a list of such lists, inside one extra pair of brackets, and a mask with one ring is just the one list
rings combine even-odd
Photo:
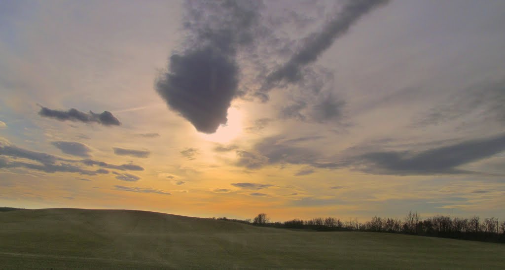
[(0, 268), (496, 268), (505, 245), (133, 210), (0, 212)]

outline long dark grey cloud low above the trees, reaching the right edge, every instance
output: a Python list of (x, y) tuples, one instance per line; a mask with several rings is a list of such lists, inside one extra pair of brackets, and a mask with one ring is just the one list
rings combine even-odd
[(358, 170), (388, 175), (433, 175), (472, 173), (457, 167), (479, 161), (505, 150), (505, 134), (463, 141), (421, 152), (384, 151), (360, 155), (353, 164)]

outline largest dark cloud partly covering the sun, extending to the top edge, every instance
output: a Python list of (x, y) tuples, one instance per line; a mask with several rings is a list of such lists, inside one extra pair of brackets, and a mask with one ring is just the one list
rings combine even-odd
[(254, 41), (260, 1), (188, 1), (181, 53), (170, 57), (156, 90), (171, 110), (199, 132), (214, 133), (227, 122), (237, 90), (236, 50)]

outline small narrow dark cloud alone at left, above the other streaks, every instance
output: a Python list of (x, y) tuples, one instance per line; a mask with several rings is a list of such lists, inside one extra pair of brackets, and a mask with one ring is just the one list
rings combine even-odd
[(101, 114), (95, 114), (89, 111), (88, 114), (76, 109), (68, 111), (52, 110), (47, 107), (40, 107), (38, 114), (42, 117), (54, 118), (60, 121), (80, 121), (83, 123), (98, 123), (104, 126), (119, 126), (121, 123), (110, 112), (105, 111)]

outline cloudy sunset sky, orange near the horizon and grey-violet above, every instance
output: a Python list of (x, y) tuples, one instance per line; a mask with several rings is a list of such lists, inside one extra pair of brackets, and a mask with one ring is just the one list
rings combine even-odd
[(0, 206), (503, 220), (503, 10), (0, 0)]

